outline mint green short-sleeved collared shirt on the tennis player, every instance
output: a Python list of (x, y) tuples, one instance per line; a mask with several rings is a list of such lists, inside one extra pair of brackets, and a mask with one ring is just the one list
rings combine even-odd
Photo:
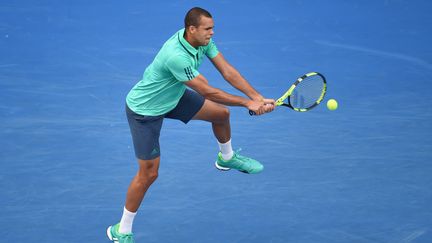
[(194, 48), (184, 39), (184, 31), (179, 30), (165, 42), (127, 95), (126, 103), (135, 113), (158, 116), (174, 109), (186, 90), (184, 82), (200, 74), (204, 56), (211, 59), (219, 53), (213, 40)]

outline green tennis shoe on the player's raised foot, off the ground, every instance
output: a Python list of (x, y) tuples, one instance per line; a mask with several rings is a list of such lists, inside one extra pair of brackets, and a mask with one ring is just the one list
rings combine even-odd
[(221, 152), (219, 152), (215, 163), (216, 168), (223, 171), (236, 169), (248, 174), (257, 174), (264, 170), (264, 166), (260, 162), (240, 155), (239, 152), (240, 150), (235, 151), (233, 157), (228, 161), (225, 161)]

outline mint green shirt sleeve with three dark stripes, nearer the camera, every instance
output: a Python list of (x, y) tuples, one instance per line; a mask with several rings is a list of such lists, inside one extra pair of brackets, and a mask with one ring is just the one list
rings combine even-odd
[(200, 73), (196, 70), (192, 61), (187, 57), (173, 56), (165, 63), (167, 69), (180, 82), (194, 79)]

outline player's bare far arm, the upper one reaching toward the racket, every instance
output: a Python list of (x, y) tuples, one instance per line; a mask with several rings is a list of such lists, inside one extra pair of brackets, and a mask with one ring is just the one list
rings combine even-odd
[[(233, 87), (243, 92), (249, 98), (253, 100), (262, 100), (264, 97), (258, 93), (248, 81), (235, 69), (228, 61), (223, 57), (222, 53), (219, 52), (217, 56), (210, 59), (217, 70), (222, 74), (224, 79), (228, 81)], [(266, 103), (274, 103), (272, 99), (265, 99)]]

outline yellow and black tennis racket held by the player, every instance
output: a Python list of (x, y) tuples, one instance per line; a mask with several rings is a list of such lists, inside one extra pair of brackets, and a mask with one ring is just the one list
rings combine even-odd
[[(286, 106), (298, 112), (305, 112), (316, 107), (327, 91), (327, 82), (324, 75), (311, 72), (295, 81), (293, 85), (276, 100), (276, 106)], [(251, 116), (254, 111), (249, 111)]]

